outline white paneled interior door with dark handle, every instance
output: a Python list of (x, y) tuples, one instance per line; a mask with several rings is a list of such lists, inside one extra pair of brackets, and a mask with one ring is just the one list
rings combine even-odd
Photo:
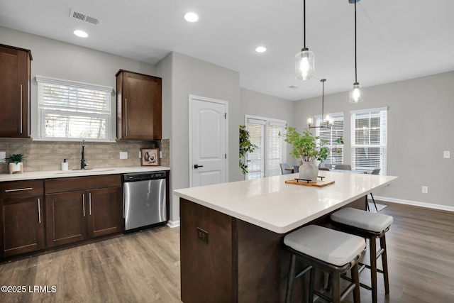
[(189, 104), (189, 186), (227, 182), (228, 104), (195, 96)]

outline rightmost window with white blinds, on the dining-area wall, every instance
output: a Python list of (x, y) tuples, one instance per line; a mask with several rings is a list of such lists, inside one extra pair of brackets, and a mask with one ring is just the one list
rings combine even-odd
[(386, 175), (387, 108), (351, 111), (353, 170), (370, 172), (380, 167)]

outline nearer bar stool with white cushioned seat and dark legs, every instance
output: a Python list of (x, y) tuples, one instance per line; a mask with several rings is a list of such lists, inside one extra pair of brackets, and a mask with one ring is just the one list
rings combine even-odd
[[(315, 293), (329, 302), (339, 303), (353, 290), (354, 302), (360, 303), (358, 262), (365, 252), (366, 243), (363, 238), (309, 225), (287, 234), (284, 244), (292, 253), (285, 302), (292, 302), (294, 280), (310, 270), (309, 302), (313, 302)], [(306, 267), (296, 274), (297, 259)], [(331, 298), (314, 290), (316, 268), (329, 274), (328, 287), (325, 290), (329, 291), (331, 288)], [(348, 270), (351, 271), (353, 282), (341, 294), (340, 277)]]

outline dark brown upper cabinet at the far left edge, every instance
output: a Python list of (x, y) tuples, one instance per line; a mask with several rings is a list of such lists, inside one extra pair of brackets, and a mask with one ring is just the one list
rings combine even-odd
[(30, 137), (31, 51), (0, 44), (0, 138)]

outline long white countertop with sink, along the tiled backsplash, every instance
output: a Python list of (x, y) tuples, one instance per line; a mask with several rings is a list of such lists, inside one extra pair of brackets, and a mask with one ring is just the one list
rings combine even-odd
[(23, 172), (22, 174), (0, 174), (0, 182), (18, 181), (18, 180), (38, 180), (52, 179), (62, 177), (81, 177), (96, 175), (115, 175), (126, 174), (130, 172), (156, 172), (160, 170), (170, 170), (165, 166), (128, 166), (128, 167), (109, 167), (93, 168), (92, 170), (50, 170), (48, 172)]

